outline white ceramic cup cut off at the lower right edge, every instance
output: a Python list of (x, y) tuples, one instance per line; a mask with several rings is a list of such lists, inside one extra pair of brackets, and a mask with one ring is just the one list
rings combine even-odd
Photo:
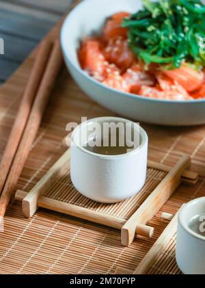
[(205, 274), (205, 237), (188, 225), (191, 218), (204, 213), (205, 197), (202, 197), (185, 204), (178, 215), (176, 262), (184, 274)]

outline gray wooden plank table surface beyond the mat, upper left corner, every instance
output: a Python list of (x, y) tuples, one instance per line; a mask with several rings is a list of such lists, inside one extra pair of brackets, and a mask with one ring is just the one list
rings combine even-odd
[(72, 0), (0, 0), (0, 85), (12, 75)]

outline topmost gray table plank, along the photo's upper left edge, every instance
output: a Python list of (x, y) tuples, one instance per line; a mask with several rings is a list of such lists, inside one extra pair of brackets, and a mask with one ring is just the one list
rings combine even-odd
[(27, 8), (63, 14), (73, 0), (3, 0), (7, 3), (22, 5)]

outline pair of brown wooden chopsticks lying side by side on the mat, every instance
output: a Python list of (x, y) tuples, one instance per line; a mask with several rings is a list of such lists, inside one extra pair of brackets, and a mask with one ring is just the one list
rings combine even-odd
[(43, 40), (0, 163), (0, 224), (25, 165), (31, 144), (63, 63), (59, 40)]

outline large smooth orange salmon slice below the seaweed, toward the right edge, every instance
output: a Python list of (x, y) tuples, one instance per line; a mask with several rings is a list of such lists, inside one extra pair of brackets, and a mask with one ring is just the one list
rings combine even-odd
[(163, 70), (163, 74), (177, 81), (187, 92), (193, 92), (202, 86), (203, 73), (183, 64), (174, 70)]

